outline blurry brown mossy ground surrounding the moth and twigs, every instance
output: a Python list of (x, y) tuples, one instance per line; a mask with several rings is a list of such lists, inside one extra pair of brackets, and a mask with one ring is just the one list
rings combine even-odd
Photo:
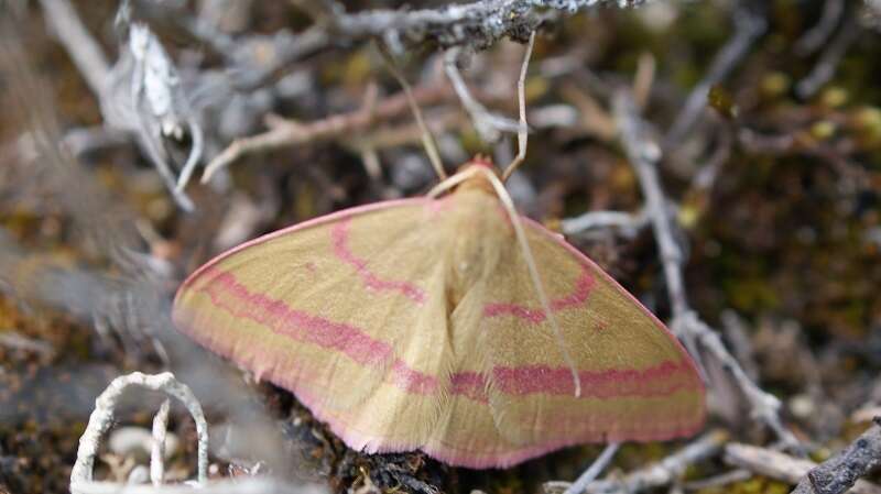
[[(251, 1), (238, 14), (221, 8), (227, 18), (217, 20), (205, 7), (210, 3), (174, 15), (215, 22), (241, 46), (241, 40), (253, 42), (250, 62), (241, 66), (249, 73), (270, 66), (281, 56), (279, 46), (306, 43), (293, 35), (273, 45), (270, 35), (283, 29), (302, 33), (315, 25), (311, 15), (322, 15), (296, 2)], [(369, 3), (348, 11), (402, 8)], [(841, 18), (833, 19), (828, 33), (814, 34), (818, 42), (805, 41), (831, 3), (844, 6)], [(199, 74), (235, 68), (235, 57), (194, 39), (170, 20), (173, 14), (143, 13), (176, 61), (191, 108), (198, 110), (204, 162), (233, 138), (265, 132), (265, 114), (306, 125), (289, 136), (294, 144), (242, 156), (209, 186), (193, 180), (187, 193), (196, 212), (186, 213), (131, 139), (97, 127), (99, 102), (46, 33), (40, 6), (13, 4), (0, 3), (19, 12), (17, 30), (0, 34), (4, 53), (22, 47), (22, 58), (11, 64), (6, 56), (0, 66), (0, 492), (65, 492), (94, 398), (117, 375), (164, 369), (194, 387), (213, 428), (257, 430), (215, 441), (226, 447), (213, 451), (215, 477), (258, 471), (335, 491), (513, 494), (573, 480), (596, 455), (598, 447), (573, 448), (507, 471), (476, 472), (418, 453), (359, 454), (289, 393), (253, 384), (189, 345), (168, 323), (177, 283), (213, 254), (345, 207), (421, 194), (435, 183), (400, 86), (369, 36), (340, 34), (339, 46), (304, 54), (278, 81), (209, 101), (211, 86)], [(116, 59), (116, 2), (75, 7), (108, 59)], [(410, 4), (416, 7), (423, 6)], [(834, 0), (737, 7), (657, 1), (548, 19), (526, 78), (530, 150), (522, 174), (509, 183), (520, 208), (553, 228), (586, 211), (638, 215), (651, 208), (617, 136), (612, 103), (616, 91), (637, 77), (641, 116), (663, 152), (660, 185), (677, 206), (673, 237), (686, 256), (688, 301), (721, 332), (747, 375), (782, 400), (784, 425), (816, 460), (864, 430), (873, 407), (881, 406), (881, 31), (873, 22), (868, 8)], [(764, 29), (744, 35), (755, 23)], [(440, 135), (442, 157), (448, 165), (476, 153), (508, 161), (512, 141), (481, 141), (444, 76), (437, 41), (404, 43), (396, 56)], [(725, 50), (732, 52), (730, 59), (719, 55)], [(522, 53), (521, 44), (499, 41), (467, 56), (461, 68), (475, 97), (499, 114), (515, 116)], [(817, 76), (824, 68), (828, 77)], [(28, 70), (44, 86), (19, 84), (15, 74)], [(698, 99), (695, 124), (683, 123), (689, 120), (683, 116), (689, 91), (701, 81), (709, 81), (709, 98)], [(196, 86), (202, 100), (193, 96)], [(352, 122), (371, 90), (378, 91), (374, 120)], [(320, 127), (335, 114), (346, 116), (342, 123)], [(57, 128), (47, 123), (53, 119)], [(34, 133), (34, 121), (44, 134)], [(29, 143), (34, 135), (54, 143), (66, 135), (74, 147), (70, 135), (84, 129), (95, 135), (77, 141), (88, 149), (76, 163), (35, 154)], [(172, 143), (180, 147), (171, 151), (172, 162), (183, 163), (189, 144), (187, 135)], [(573, 244), (655, 314), (671, 318), (674, 307), (650, 224), (635, 219), (624, 228), (569, 233)], [(708, 430), (772, 446), (777, 438), (751, 418), (749, 403), (731, 383), (722, 377), (711, 386)], [(159, 403), (135, 396), (118, 413), (119, 426), (149, 430)], [(172, 417), (180, 447), (166, 466), (171, 481), (192, 476), (195, 465), (195, 428), (182, 409)], [(272, 441), (250, 441), (254, 446), (249, 437)], [(611, 469), (623, 475), (678, 446), (628, 444)], [(135, 464), (145, 464), (138, 450), (106, 450), (96, 476), (126, 479)], [(716, 453), (690, 466), (685, 481), (731, 470)], [(790, 487), (748, 468), (724, 487), (689, 488)]]

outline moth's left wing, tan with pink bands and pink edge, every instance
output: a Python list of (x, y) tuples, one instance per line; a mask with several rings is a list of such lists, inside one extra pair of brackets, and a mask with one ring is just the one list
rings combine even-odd
[[(181, 287), (176, 326), (291, 389), (356, 449), (416, 449), (443, 404), (446, 237), (432, 201), (355, 208), (262, 237)], [(428, 227), (428, 228), (426, 228)]]

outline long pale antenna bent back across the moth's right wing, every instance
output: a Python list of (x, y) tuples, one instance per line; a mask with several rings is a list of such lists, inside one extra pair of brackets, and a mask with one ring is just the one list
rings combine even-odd
[[(504, 184), (502, 184), (502, 180), (500, 180), (494, 173), (485, 167), (471, 167), (463, 173), (458, 173), (449, 177), (449, 179), (447, 180), (442, 182), (435, 188), (438, 188), (442, 185), (445, 185), (446, 183), (456, 179), (459, 175), (464, 176), (463, 178), (458, 179), (458, 182), (461, 182), (476, 174), (483, 174), (489, 179), (489, 183), (492, 184), (493, 190), (496, 190), (496, 195), (499, 197), (499, 200), (502, 201), (505, 212), (508, 212), (508, 217), (511, 218), (511, 224), (514, 227), (514, 234), (516, 235), (516, 241), (520, 244), (521, 250), (523, 251), (523, 259), (526, 260), (526, 267), (530, 272), (530, 278), (532, 278), (532, 284), (535, 286), (535, 293), (539, 295), (539, 301), (542, 304), (544, 314), (547, 315), (547, 320), (551, 322), (551, 328), (553, 328), (554, 330), (554, 337), (557, 340), (559, 352), (563, 354), (563, 360), (566, 362), (566, 365), (568, 365), (569, 371), (572, 371), (572, 380), (573, 383), (575, 384), (575, 397), (579, 397), (581, 396), (581, 378), (578, 375), (578, 367), (575, 366), (575, 360), (573, 360), (572, 355), (569, 354), (569, 351), (566, 349), (566, 341), (563, 339), (563, 331), (559, 329), (559, 325), (557, 325), (557, 319), (554, 316), (554, 311), (551, 308), (551, 303), (547, 300), (547, 294), (544, 292), (544, 285), (542, 285), (542, 278), (539, 276), (539, 267), (535, 264), (535, 257), (533, 257), (532, 255), (532, 250), (530, 249), (530, 243), (526, 240), (526, 233), (523, 230), (523, 224), (520, 221), (520, 216), (516, 212), (516, 208), (514, 208), (514, 201), (511, 199), (511, 196), (508, 195), (508, 190), (504, 189)], [(447, 188), (454, 185), (455, 184), (452, 184)], [(434, 189), (432, 191), (434, 191)]]

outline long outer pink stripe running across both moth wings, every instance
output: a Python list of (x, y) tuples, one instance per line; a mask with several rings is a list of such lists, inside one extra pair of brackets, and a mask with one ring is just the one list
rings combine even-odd
[[(211, 267), (203, 275), (208, 279), (197, 289), (206, 293), (215, 306), (235, 317), (250, 319), (278, 334), (297, 341), (340, 351), (361, 365), (382, 367), (391, 362), (390, 381), (407, 393), (428, 395), (438, 389), (438, 380), (435, 376), (412, 369), (403, 360), (394, 358), (390, 344), (371, 338), (360, 328), (295, 310), (284, 301), (251, 293), (233, 274), (219, 268)], [(670, 378), (675, 374), (685, 378)], [(586, 398), (667, 396), (681, 388), (699, 386), (687, 361), (664, 362), (642, 371), (581, 371), (579, 376), (581, 383), (586, 384), (583, 389), (583, 397)], [(574, 392), (572, 374), (567, 367), (496, 367), (492, 380), (501, 392), (511, 395), (567, 395)], [(486, 388), (487, 382), (482, 374), (458, 372), (450, 376), (450, 392), (455, 395), (486, 402)]]

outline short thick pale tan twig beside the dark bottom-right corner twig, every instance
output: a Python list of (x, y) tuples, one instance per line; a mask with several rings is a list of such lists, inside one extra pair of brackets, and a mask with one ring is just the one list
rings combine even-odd
[[(811, 460), (791, 457), (768, 448), (741, 443), (731, 443), (725, 447), (725, 462), (791, 484), (795, 484), (811, 469), (817, 466)], [(866, 481), (857, 481), (850, 492), (856, 494), (881, 494), (881, 486)]]

